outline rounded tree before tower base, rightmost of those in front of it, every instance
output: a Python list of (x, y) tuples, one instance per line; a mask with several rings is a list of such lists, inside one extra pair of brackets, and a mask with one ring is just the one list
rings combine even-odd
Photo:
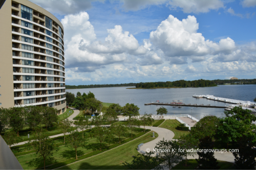
[(46, 130), (48, 126), (52, 126), (57, 122), (57, 109), (52, 107), (42, 107), (42, 124), (46, 125)]

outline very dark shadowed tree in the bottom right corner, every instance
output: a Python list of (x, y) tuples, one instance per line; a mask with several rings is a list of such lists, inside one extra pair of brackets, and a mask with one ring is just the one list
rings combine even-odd
[(239, 150), (233, 152), (234, 166), (237, 169), (255, 169), (256, 168), (256, 151), (254, 149), (255, 142), (248, 136), (242, 136), (239, 141)]

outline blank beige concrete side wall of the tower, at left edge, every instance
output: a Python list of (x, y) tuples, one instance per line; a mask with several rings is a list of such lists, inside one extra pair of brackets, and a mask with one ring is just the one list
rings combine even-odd
[(0, 9), (0, 107), (14, 107), (11, 1)]

